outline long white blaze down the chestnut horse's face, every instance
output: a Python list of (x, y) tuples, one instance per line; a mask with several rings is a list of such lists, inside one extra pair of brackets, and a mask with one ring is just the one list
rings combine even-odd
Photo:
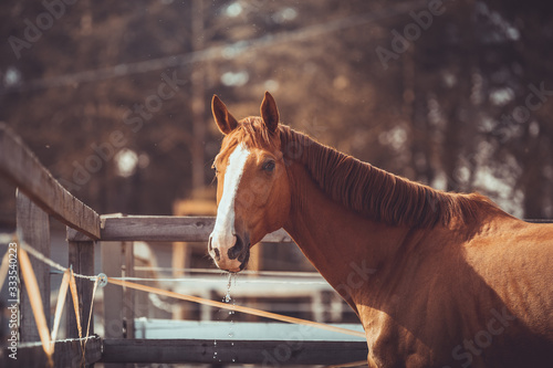
[(211, 232), (215, 248), (230, 249), (236, 243), (234, 200), (249, 155), (250, 151), (243, 145), (237, 146), (234, 151), (230, 154), (229, 165), (225, 172), (222, 197), (217, 208), (217, 219)]

